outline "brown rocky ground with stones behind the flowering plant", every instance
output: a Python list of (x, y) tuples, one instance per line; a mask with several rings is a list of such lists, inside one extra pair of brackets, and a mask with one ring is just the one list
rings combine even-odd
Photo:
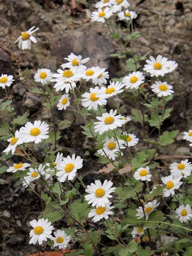
[[(180, 132), (191, 129), (191, 74), (192, 74), (192, 2), (190, 0), (130, 0), (132, 8), (138, 13), (134, 29), (141, 31), (135, 51), (141, 55), (162, 54), (179, 63), (179, 68), (170, 76), (174, 86), (174, 107), (172, 116), (166, 123), (169, 130)], [(42, 98), (28, 91), (30, 84), (21, 83), (17, 78), (19, 68), (29, 68), (33, 77), (37, 69), (34, 55), (30, 51), (20, 51), (14, 41), (21, 31), (32, 26), (39, 27), (35, 34), (38, 43), (36, 51), (45, 67), (56, 71), (63, 58), (71, 52), (90, 57), (88, 66), (105, 67), (110, 77), (125, 75), (123, 62), (109, 58), (110, 53), (118, 50), (111, 41), (108, 30), (99, 23), (89, 20), (94, 10), (94, 1), (85, 0), (2, 0), (0, 1), (0, 72), (12, 74), (16, 80), (9, 90), (13, 97), (15, 111), (18, 115), (30, 111), (29, 119), (51, 119), (50, 111), (42, 106)], [(125, 36), (122, 30), (122, 37)], [(0, 98), (4, 97), (1, 90)], [(122, 100), (119, 99), (122, 103)], [(121, 106), (124, 114), (129, 115), (131, 103), (126, 100)], [(6, 116), (6, 113), (3, 115)], [(62, 119), (73, 120), (73, 126), (63, 132), (60, 141), (62, 151), (81, 155), (84, 161), (84, 176), (89, 183), (89, 173), (97, 173), (100, 165), (95, 165), (94, 145), (85, 139), (79, 125), (83, 123), (79, 116), (55, 109), (57, 123)], [(130, 123), (130, 125), (132, 125)], [(140, 127), (138, 127), (139, 133)], [(174, 154), (189, 154), (189, 147), (177, 137), (177, 145), (172, 146)], [(5, 148), (1, 143), (1, 151)], [(38, 152), (38, 147), (35, 148)], [(169, 154), (164, 149), (163, 155)], [(18, 158), (11, 159), (19, 161)], [(93, 176), (93, 175), (92, 175)], [(92, 177), (93, 179), (94, 177)], [(38, 247), (29, 245), (29, 221), (37, 218), (42, 209), (38, 198), (21, 187), (18, 180), (11, 175), (0, 177), (0, 255), (20, 256), (37, 252)], [(65, 223), (63, 223), (65, 225)]]

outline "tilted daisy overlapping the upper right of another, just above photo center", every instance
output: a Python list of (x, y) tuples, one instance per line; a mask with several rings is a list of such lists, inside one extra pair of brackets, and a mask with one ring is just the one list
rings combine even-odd
[(113, 97), (114, 95), (117, 95), (118, 93), (123, 92), (124, 90), (122, 89), (124, 85), (121, 82), (111, 82), (109, 81), (110, 85), (107, 86), (102, 86), (100, 89), (100, 94), (103, 97), (109, 98)]

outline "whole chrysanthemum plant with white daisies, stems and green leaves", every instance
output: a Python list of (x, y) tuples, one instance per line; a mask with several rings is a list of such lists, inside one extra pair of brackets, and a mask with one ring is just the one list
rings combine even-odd
[[(108, 82), (105, 67), (87, 68), (89, 58), (73, 53), (53, 74), (44, 68), (33, 45), (37, 41), (32, 34), (38, 29), (32, 31), (33, 27), (21, 33), (19, 47), (32, 50), (39, 67), (34, 79), (28, 69), (19, 70), (19, 79), (23, 83), (27, 79), (31, 84), (29, 91), (43, 96), (43, 106), (50, 109), (52, 118), (42, 117), (42, 121), (31, 123), (28, 111), (15, 115), (14, 99), (7, 90), (14, 79), (2, 74), (0, 86), (7, 100), (1, 101), (0, 110), (8, 115), (1, 118), (1, 141), (5, 146), (1, 173), (12, 172), (14, 178), (21, 180), (21, 186), (44, 202), (38, 220), (30, 221), (30, 244), (46, 243), (50, 250), (63, 255), (75, 249), (70, 255), (189, 256), (192, 165), (188, 159), (174, 156), (174, 152), (159, 155), (159, 149), (174, 143), (179, 133), (162, 129), (171, 115), (172, 108), (167, 103), (174, 92), (165, 77), (177, 68), (177, 63), (158, 55), (146, 60), (143, 67), (148, 53), (140, 56), (134, 52), (139, 32), (133, 31), (137, 14), (131, 11), (129, 3), (101, 1), (97, 7), (99, 10), (92, 13), (91, 19), (106, 22), (121, 49), (112, 56), (125, 61), (127, 75)], [(123, 30), (119, 20), (125, 24)], [(126, 42), (121, 38), (122, 31)], [(146, 82), (142, 70), (150, 74)], [(131, 113), (120, 107), (117, 94), (123, 100), (129, 97), (135, 106)], [(113, 109), (108, 107), (109, 101), (110, 106), (113, 102)], [(57, 123), (54, 115), (59, 110), (82, 116), (83, 134), (95, 143), (98, 162), (107, 166), (99, 171), (103, 174), (101, 181), (84, 183), (83, 150), (79, 149), (82, 157), (63, 155), (61, 131), (72, 122), (64, 119)], [(184, 134), (183, 139), (191, 143), (192, 130)], [(41, 153), (34, 143), (39, 144)], [(14, 161), (13, 155), (21, 160), (10, 166), (9, 158)], [(163, 177), (160, 170), (167, 169), (167, 164), (170, 170)], [(65, 227), (59, 226), (61, 219)], [(54, 230), (55, 222), (58, 230)], [(167, 239), (169, 236), (172, 242)]]

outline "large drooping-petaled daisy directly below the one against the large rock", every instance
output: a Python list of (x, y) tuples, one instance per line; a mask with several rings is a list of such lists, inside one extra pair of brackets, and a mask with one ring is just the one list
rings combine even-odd
[(65, 69), (61, 70), (58, 69), (58, 74), (52, 74), (52, 77), (54, 79), (51, 79), (51, 82), (56, 82), (53, 86), (58, 91), (63, 91), (65, 89), (66, 93), (69, 92), (69, 90), (76, 87), (75, 82), (79, 81), (81, 79), (83, 68), (81, 67), (73, 67), (71, 69)]

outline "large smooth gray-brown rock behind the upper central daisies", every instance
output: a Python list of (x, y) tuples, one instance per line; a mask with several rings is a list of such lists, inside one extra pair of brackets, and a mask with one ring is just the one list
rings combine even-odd
[(51, 53), (55, 55), (59, 63), (65, 63), (66, 58), (71, 52), (81, 54), (83, 58), (90, 57), (86, 63), (87, 67), (99, 66), (109, 69), (111, 60), (109, 55), (115, 52), (111, 41), (98, 32), (97, 28), (91, 27), (85, 31), (75, 31), (57, 42), (52, 43)]

